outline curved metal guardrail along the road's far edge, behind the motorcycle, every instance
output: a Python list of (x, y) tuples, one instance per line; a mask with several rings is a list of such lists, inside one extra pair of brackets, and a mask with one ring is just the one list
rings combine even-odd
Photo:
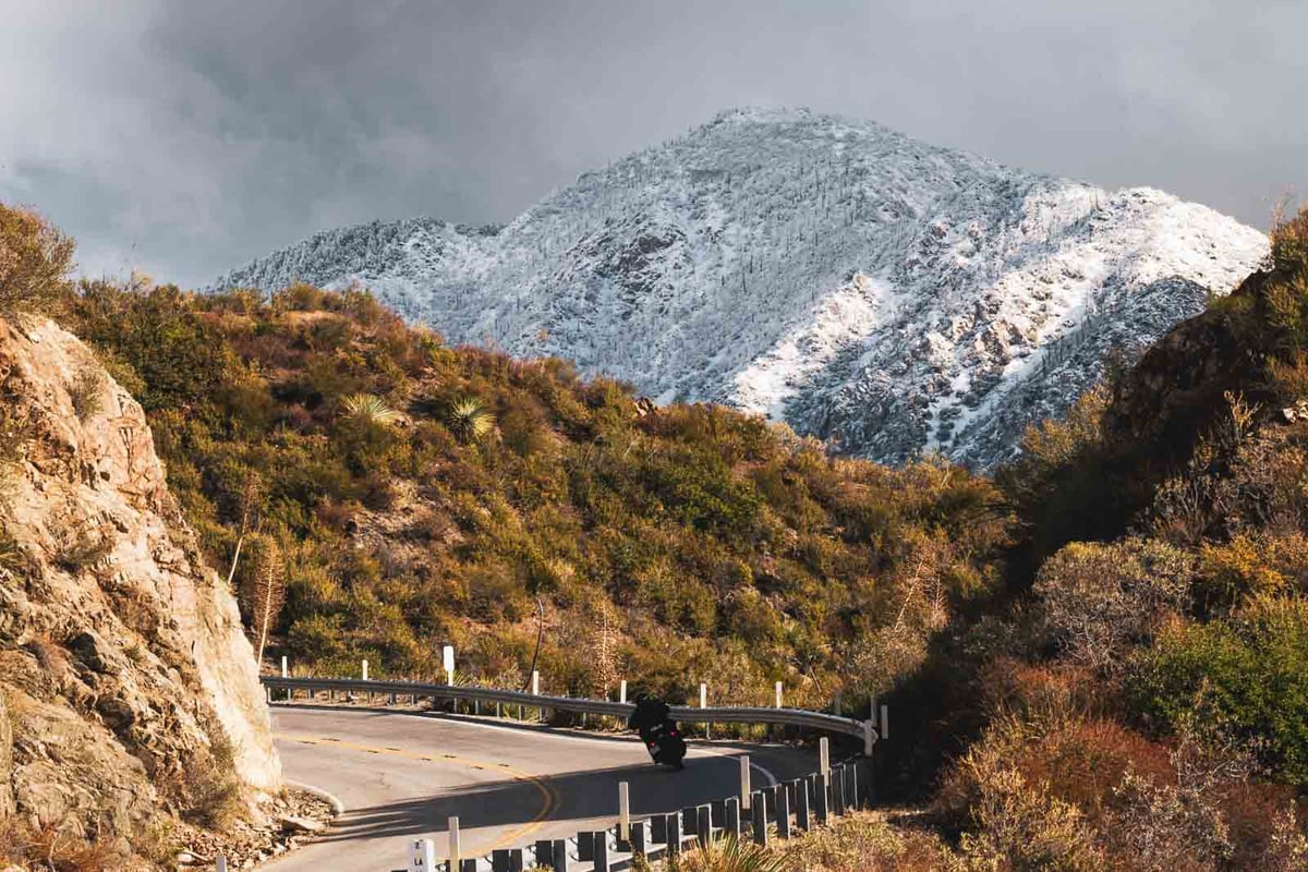
[[(263, 676), (260, 677), (260, 681), (269, 690), (337, 690), (354, 693), (404, 694), (417, 698), (429, 697), (432, 699), (477, 699), (481, 702), (497, 702), (510, 706), (574, 711), (578, 714), (608, 715), (612, 718), (627, 718), (627, 715), (629, 715), (636, 707), (632, 703), (611, 702), (607, 699), (547, 697), (543, 694), (523, 693), (521, 690), (497, 690), (494, 688), (477, 688), (472, 685), (424, 684), (419, 681), (283, 679), (277, 676)], [(671, 706), (671, 713), (674, 719), (685, 723), (777, 724), (786, 727), (807, 727), (810, 729), (819, 729), (823, 732), (855, 736), (863, 740), (863, 753), (866, 754), (871, 754), (872, 743), (876, 741), (876, 727), (871, 720), (842, 718), (824, 711), (747, 706), (704, 709), (698, 706)]]

